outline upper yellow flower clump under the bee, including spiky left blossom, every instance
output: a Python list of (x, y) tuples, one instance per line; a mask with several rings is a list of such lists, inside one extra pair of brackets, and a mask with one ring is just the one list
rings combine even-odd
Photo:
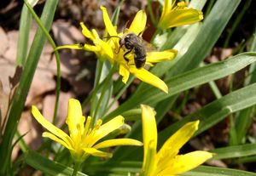
[[(89, 31), (83, 23), (80, 23), (82, 27), (82, 32), (84, 37), (89, 38), (93, 45), (90, 44), (74, 44), (60, 46), (56, 49), (61, 48), (73, 48), (73, 49), (84, 49), (87, 51), (92, 51), (96, 53), (99, 59), (107, 59), (112, 64), (119, 65), (119, 74), (123, 77), (122, 81), (127, 82), (130, 73), (133, 74), (138, 79), (148, 84), (153, 85), (156, 88), (160, 88), (164, 92), (168, 92), (168, 87), (165, 82), (163, 82), (159, 77), (154, 76), (151, 72), (147, 71), (144, 67), (137, 68), (134, 62), (134, 51), (131, 51), (130, 54), (127, 54), (125, 57), (128, 59), (125, 60), (125, 53), (128, 51), (125, 47), (120, 48), (119, 40), (128, 33), (134, 33), (139, 35), (142, 33), (146, 26), (147, 16), (143, 10), (137, 12), (134, 20), (131, 23), (129, 29), (125, 29), (125, 32), (118, 33), (116, 27), (112, 25), (111, 20), (109, 19), (107, 9), (101, 7), (103, 20), (110, 37), (108, 41), (102, 40), (97, 34), (96, 30)], [(165, 60), (172, 60), (176, 57), (177, 50), (168, 49), (165, 51), (154, 51), (146, 52), (146, 65), (152, 66), (154, 63), (158, 63)]]

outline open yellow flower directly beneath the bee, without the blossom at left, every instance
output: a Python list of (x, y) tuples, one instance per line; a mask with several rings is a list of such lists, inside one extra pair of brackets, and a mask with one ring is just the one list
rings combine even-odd
[[(123, 77), (123, 82), (127, 82), (130, 73), (133, 74), (138, 79), (143, 82), (147, 82), (153, 85), (156, 88), (160, 88), (164, 92), (168, 92), (166, 83), (160, 80), (159, 77), (154, 76), (151, 72), (147, 71), (145, 68), (137, 68), (134, 62), (134, 53), (127, 54), (126, 58), (128, 62), (124, 59), (124, 54), (127, 52), (127, 49), (119, 49), (119, 38), (125, 37), (125, 35), (134, 33), (139, 36), (145, 30), (147, 15), (143, 10), (137, 12), (134, 20), (131, 22), (131, 26), (128, 29), (125, 29), (124, 32), (118, 33), (115, 30), (115, 27), (112, 25), (111, 20), (109, 19), (107, 9), (101, 7), (103, 13), (103, 20), (108, 31), (110, 41), (113, 41), (113, 53), (114, 57), (111, 59), (112, 62), (119, 64), (119, 74)], [(119, 38), (117, 38), (119, 37)], [(119, 52), (116, 52), (119, 51)], [(172, 60), (176, 57), (177, 50), (168, 49), (165, 51), (154, 51), (146, 52), (146, 65), (153, 65), (154, 63), (161, 62), (164, 60)]]

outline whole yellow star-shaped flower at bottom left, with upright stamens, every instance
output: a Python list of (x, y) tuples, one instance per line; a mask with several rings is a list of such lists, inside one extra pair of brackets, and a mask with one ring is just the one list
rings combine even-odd
[[(109, 122), (102, 124), (102, 120), (96, 122), (94, 128), (90, 128), (91, 117), (85, 118), (82, 114), (82, 108), (77, 99), (69, 99), (67, 112), (67, 126), (69, 134), (63, 132), (48, 122), (38, 111), (36, 106), (32, 106), (32, 115), (49, 132), (44, 132), (43, 137), (54, 140), (70, 150), (76, 162), (82, 162), (89, 156), (108, 156), (112, 154), (98, 149), (107, 148), (116, 145), (143, 145), (135, 139), (108, 139), (98, 144), (96, 142), (113, 130), (120, 128), (124, 124), (123, 116), (116, 116)], [(85, 122), (85, 124), (84, 124)]]

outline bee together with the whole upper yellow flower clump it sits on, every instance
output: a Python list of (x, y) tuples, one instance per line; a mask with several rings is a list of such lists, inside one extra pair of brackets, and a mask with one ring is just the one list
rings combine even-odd
[[(80, 23), (84, 37), (89, 38), (93, 44), (73, 44), (60, 46), (55, 49), (73, 48), (84, 49), (94, 52), (100, 60), (109, 60), (113, 65), (118, 65), (119, 75), (122, 81), (127, 82), (130, 74), (143, 82), (153, 85), (165, 93), (168, 87), (159, 77), (144, 68), (144, 65), (152, 66), (154, 63), (165, 60), (173, 60), (177, 50), (167, 49), (164, 51), (147, 52), (141, 43), (141, 35), (146, 27), (147, 15), (143, 10), (137, 12), (131, 26), (122, 32), (117, 32), (113, 26), (106, 8), (101, 7), (106, 31), (110, 37), (99, 37), (95, 29), (89, 30), (84, 23)], [(135, 38), (135, 39), (134, 39)], [(107, 40), (108, 39), (108, 40)], [(136, 40), (136, 43), (134, 41)]]

